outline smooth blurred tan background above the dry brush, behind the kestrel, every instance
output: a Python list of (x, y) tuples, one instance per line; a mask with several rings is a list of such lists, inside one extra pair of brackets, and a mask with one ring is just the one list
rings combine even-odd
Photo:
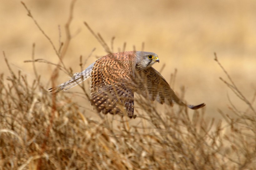
[[(71, 0), (24, 0), (32, 16), (58, 48), (64, 42), (65, 23), (69, 16)], [(35, 59), (58, 63), (59, 59), (51, 44), (27, 16), (20, 1), (1, 0), (0, 50), (16, 71), (32, 81), (35, 76), (32, 63), (32, 44), (35, 43)], [(214, 61), (214, 52), (228, 71), (240, 91), (249, 100), (253, 99), (256, 86), (256, 1), (255, 0), (77, 0), (71, 23), (72, 40), (63, 59), (67, 67), (80, 72), (79, 58), (88, 59), (85, 68), (97, 57), (106, 54), (100, 43), (83, 24), (88, 23), (93, 31), (100, 33), (108, 45), (115, 36), (114, 52), (142, 49), (158, 54), (160, 63), (154, 68), (169, 82), (171, 73), (177, 69), (173, 86), (181, 95), (185, 87), (185, 101), (189, 104), (206, 103), (209, 117), (219, 116), (217, 109), (228, 111), (229, 100), (238, 109), (247, 106), (219, 80), (227, 79)], [(2, 54), (1, 54), (2, 55)], [(55, 67), (36, 63), (45, 88)], [(3, 57), (0, 57), (0, 73), (9, 74)], [(57, 84), (69, 80), (60, 72)], [(89, 81), (86, 82), (89, 91)], [(71, 91), (79, 91), (79, 87)], [(76, 99), (90, 106), (84, 99)], [(136, 105), (136, 103), (135, 103)], [(255, 105), (254, 105), (255, 106)]]

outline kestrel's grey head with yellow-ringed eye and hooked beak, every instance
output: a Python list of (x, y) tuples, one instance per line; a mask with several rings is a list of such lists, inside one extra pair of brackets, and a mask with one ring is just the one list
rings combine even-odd
[(151, 67), (155, 62), (159, 63), (158, 55), (151, 52), (136, 51), (137, 64), (136, 69), (144, 70)]

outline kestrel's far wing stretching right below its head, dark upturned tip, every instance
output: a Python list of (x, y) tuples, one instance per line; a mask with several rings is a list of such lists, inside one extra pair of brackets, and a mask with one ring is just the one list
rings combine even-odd
[(153, 67), (145, 70), (135, 72), (135, 81), (137, 84), (136, 92), (144, 97), (150, 97), (151, 100), (157, 100), (161, 104), (167, 103), (170, 106), (173, 103), (188, 106), (191, 109), (199, 109), (205, 106), (204, 103), (200, 105), (186, 105), (182, 102), (175, 92), (171, 89), (170, 85), (166, 82), (163, 76), (156, 71)]

